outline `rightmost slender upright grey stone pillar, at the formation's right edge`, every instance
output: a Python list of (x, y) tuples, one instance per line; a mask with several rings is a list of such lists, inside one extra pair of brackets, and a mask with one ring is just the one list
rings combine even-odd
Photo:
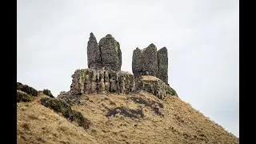
[(168, 83), (168, 53), (166, 47), (158, 50), (158, 78)]

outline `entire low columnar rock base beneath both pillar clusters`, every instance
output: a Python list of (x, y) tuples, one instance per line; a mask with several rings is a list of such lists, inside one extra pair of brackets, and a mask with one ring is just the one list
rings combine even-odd
[(142, 90), (162, 99), (167, 94), (174, 95), (170, 86), (158, 78), (145, 78), (144, 76), (135, 78), (133, 74), (124, 71), (83, 69), (76, 70), (72, 78), (71, 95), (130, 94)]

